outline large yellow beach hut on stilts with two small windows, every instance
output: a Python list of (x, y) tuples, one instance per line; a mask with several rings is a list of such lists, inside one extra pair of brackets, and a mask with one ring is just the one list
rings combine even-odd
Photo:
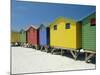
[(69, 50), (76, 59), (81, 48), (81, 25), (75, 20), (59, 17), (50, 24), (50, 46), (56, 49)]

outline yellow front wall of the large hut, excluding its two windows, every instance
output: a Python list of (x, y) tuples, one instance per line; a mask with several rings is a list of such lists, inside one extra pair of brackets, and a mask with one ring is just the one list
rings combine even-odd
[[(66, 23), (70, 23), (70, 28), (65, 29)], [(57, 30), (54, 30), (57, 25)], [(77, 49), (76, 22), (73, 20), (59, 20), (50, 25), (50, 46)]]

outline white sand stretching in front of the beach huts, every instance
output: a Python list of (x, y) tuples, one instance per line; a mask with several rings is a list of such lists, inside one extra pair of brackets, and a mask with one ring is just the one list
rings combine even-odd
[(53, 55), (32, 48), (11, 47), (11, 49), (12, 74), (95, 69), (95, 64), (75, 61), (66, 56)]

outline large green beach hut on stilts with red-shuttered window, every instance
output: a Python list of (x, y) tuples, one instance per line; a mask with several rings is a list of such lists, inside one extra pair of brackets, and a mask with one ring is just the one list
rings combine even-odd
[(96, 13), (82, 19), (82, 48), (85, 50), (86, 62), (96, 54)]

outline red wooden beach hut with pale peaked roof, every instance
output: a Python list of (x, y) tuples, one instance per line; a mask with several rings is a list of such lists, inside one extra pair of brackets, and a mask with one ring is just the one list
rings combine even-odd
[(37, 49), (39, 43), (38, 28), (36, 26), (31, 25), (25, 30), (27, 34), (26, 38), (28, 45)]

